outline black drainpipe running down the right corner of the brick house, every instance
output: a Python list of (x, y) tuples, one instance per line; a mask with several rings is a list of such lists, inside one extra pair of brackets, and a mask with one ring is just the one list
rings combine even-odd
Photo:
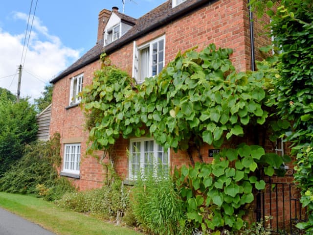
[[(255, 53), (254, 53), (254, 28), (253, 28), (253, 14), (251, 10), (250, 0), (248, 0), (249, 6), (249, 26), (250, 26), (250, 52), (251, 52), (251, 71), (255, 71)], [(255, 136), (254, 141), (255, 144), (259, 144), (259, 131), (257, 127), (255, 127)], [(256, 171), (256, 176), (258, 180), (261, 179), (261, 170), (258, 169)], [(262, 211), (261, 211), (261, 191), (258, 190), (256, 195), (256, 220), (259, 222), (262, 218)]]

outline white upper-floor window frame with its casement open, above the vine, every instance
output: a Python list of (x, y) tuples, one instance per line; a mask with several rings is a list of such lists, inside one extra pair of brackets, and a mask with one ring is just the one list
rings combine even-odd
[[(159, 42), (163, 40), (163, 48), (159, 48)], [(145, 77), (141, 77), (141, 56), (140, 56), (140, 51), (143, 49), (146, 49), (149, 47), (149, 61), (148, 61), (148, 75), (147, 77), (151, 77), (154, 75), (157, 75), (160, 72), (160, 69), (158, 68), (159, 63), (163, 63), (163, 66), (161, 69), (165, 67), (165, 35), (156, 38), (153, 41), (150, 41), (149, 43), (146, 43), (144, 45), (141, 45), (139, 47), (136, 46), (136, 42), (134, 41), (134, 50), (133, 50), (133, 77), (136, 80), (137, 83), (142, 83), (144, 82)], [(157, 44), (157, 52), (153, 53), (153, 45)], [(159, 61), (159, 53), (163, 53), (163, 57), (161, 58), (162, 60)], [(153, 74), (153, 55), (156, 54), (156, 74)]]

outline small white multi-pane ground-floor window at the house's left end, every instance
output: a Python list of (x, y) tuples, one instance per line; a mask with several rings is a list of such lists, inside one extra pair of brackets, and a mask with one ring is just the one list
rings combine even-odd
[(64, 144), (63, 171), (62, 172), (79, 175), (80, 156), (81, 156), (81, 144), (80, 143)]

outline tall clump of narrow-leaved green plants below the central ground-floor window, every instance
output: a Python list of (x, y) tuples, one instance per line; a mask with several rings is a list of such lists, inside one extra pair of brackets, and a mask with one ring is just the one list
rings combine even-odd
[(163, 172), (138, 176), (132, 190), (132, 209), (138, 223), (149, 233), (159, 235), (190, 234), (183, 201), (172, 177)]

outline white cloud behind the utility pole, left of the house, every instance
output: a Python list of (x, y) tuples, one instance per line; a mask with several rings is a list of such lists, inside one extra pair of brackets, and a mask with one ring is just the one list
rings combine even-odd
[[(14, 18), (27, 23), (28, 15), (15, 12)], [(25, 32), (13, 35), (0, 27), (0, 87), (9, 89), (13, 94), (17, 93), (18, 75), (2, 77), (17, 73), (24, 36)], [(80, 52), (80, 49), (65, 47), (59, 37), (50, 35), (48, 28), (35, 16), (23, 67), (21, 96), (38, 98), (49, 80), (78, 59)]]

